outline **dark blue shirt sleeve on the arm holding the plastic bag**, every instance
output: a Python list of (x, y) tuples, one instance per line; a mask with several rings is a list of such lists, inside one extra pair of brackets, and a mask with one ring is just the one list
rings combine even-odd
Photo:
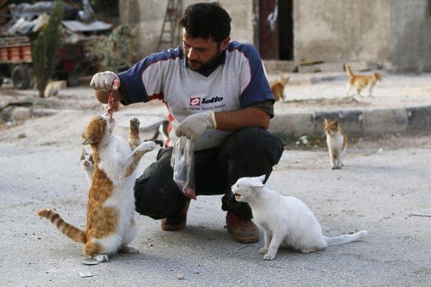
[[(275, 101), (257, 49), (251, 44), (241, 43), (238, 50), (248, 59), (248, 65), (241, 70), (241, 74), (246, 75), (245, 78), (249, 80), (241, 93), (241, 108), (246, 108), (258, 101), (268, 99)], [(244, 78), (244, 75), (240, 78)]]

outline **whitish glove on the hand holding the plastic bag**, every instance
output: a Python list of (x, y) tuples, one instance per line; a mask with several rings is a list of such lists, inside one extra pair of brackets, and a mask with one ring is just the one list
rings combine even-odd
[(198, 112), (186, 117), (175, 130), (177, 137), (185, 136), (196, 141), (207, 128), (217, 128), (214, 112)]

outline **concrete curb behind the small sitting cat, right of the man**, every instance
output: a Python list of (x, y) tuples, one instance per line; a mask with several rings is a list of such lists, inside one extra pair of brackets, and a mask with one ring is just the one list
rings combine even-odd
[(321, 136), (323, 120), (339, 119), (349, 137), (379, 137), (394, 132), (417, 132), (431, 129), (431, 106), (381, 108), (373, 110), (334, 110), (276, 113), (270, 132), (276, 135)]

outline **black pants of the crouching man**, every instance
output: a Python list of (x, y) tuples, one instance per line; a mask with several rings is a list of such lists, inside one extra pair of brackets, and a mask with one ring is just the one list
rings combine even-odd
[[(221, 146), (194, 152), (197, 195), (224, 195), (221, 208), (251, 219), (250, 206), (238, 202), (230, 187), (241, 177), (272, 172), (283, 153), (283, 143), (263, 128), (245, 128), (230, 135)], [(162, 219), (174, 215), (189, 200), (173, 181), (172, 148), (159, 150), (157, 161), (148, 166), (134, 186), (136, 210)]]

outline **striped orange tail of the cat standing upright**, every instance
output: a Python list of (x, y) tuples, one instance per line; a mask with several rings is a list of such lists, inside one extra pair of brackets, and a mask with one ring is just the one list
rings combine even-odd
[(51, 221), (51, 223), (57, 226), (57, 229), (60, 230), (63, 235), (66, 235), (73, 241), (77, 241), (83, 244), (87, 242), (87, 232), (68, 224), (54, 210), (42, 208), (41, 210), (39, 210), (39, 212), (37, 212), (37, 215), (39, 217), (45, 217), (46, 219)]

